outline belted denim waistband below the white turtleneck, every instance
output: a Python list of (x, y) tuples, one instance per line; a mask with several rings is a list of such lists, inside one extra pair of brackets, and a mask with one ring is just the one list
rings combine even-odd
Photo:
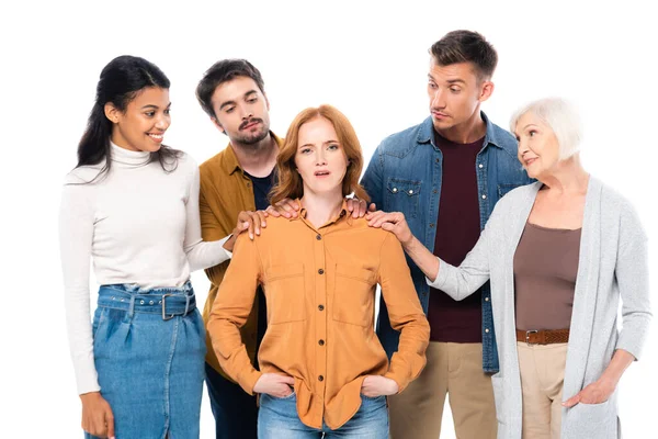
[(101, 285), (99, 306), (133, 313), (160, 314), (168, 320), (196, 309), (190, 281), (182, 286), (143, 289), (132, 284)]

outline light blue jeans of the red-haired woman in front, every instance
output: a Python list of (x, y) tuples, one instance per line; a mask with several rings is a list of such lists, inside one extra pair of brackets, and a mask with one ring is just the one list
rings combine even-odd
[[(324, 434), (324, 436), (322, 436)], [(386, 397), (361, 395), (361, 407), (344, 425), (331, 430), (326, 424), (321, 429), (302, 424), (297, 415), (297, 398), (292, 393), (284, 398), (260, 396), (258, 412), (259, 439), (388, 439), (388, 409)]]

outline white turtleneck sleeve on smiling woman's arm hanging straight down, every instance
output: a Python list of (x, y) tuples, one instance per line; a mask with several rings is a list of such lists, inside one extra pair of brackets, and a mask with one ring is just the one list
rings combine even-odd
[(70, 353), (78, 393), (100, 391), (93, 361), (89, 270), (94, 214), (88, 184), (65, 184), (59, 210), (59, 249)]

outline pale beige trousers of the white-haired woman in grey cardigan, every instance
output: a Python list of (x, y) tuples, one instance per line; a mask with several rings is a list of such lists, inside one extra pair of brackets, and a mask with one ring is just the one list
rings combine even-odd
[(559, 439), (567, 344), (518, 341), (523, 393), (523, 439)]

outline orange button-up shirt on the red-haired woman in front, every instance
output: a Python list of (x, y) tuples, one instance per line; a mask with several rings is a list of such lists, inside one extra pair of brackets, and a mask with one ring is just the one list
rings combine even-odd
[[(361, 405), (366, 375), (395, 380), (401, 392), (426, 364), (430, 326), (397, 238), (341, 214), (316, 228), (305, 218), (268, 219), (261, 236), (246, 234), (213, 305), (208, 333), (222, 368), (248, 393), (262, 373), (295, 379), (297, 414), (309, 427), (345, 424)], [(253, 368), (239, 328), (262, 284), (268, 330)], [(375, 289), (400, 330), (390, 364), (374, 333)]]

